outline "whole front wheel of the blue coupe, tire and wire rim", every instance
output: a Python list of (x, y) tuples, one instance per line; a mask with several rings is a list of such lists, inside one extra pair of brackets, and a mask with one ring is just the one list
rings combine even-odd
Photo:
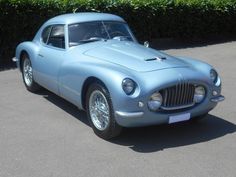
[(100, 83), (92, 84), (86, 95), (86, 110), (91, 127), (96, 135), (111, 139), (121, 133), (116, 123), (108, 90)]

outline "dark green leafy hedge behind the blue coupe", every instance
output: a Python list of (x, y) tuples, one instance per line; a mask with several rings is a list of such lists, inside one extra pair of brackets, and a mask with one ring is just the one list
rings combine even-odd
[(236, 0), (0, 0), (0, 64), (48, 18), (73, 11), (120, 15), (141, 41), (236, 35)]

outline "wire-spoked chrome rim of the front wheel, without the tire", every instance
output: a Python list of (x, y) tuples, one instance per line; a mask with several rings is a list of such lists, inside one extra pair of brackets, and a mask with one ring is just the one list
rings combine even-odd
[(110, 122), (109, 105), (105, 95), (95, 90), (92, 92), (89, 98), (89, 114), (93, 125), (98, 130), (105, 130)]

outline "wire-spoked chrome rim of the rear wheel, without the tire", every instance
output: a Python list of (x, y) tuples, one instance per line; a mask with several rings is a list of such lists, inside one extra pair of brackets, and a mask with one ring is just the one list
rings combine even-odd
[(33, 69), (28, 58), (24, 60), (23, 74), (26, 85), (31, 86), (33, 82)]

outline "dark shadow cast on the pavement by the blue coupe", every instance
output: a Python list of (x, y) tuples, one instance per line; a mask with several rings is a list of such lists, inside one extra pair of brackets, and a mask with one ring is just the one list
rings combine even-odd
[[(86, 113), (73, 104), (45, 89), (38, 94), (89, 126)], [(136, 152), (150, 153), (214, 140), (235, 131), (235, 124), (209, 114), (205, 119), (195, 123), (183, 122), (172, 125), (126, 128), (119, 137), (110, 142), (127, 146)]]

